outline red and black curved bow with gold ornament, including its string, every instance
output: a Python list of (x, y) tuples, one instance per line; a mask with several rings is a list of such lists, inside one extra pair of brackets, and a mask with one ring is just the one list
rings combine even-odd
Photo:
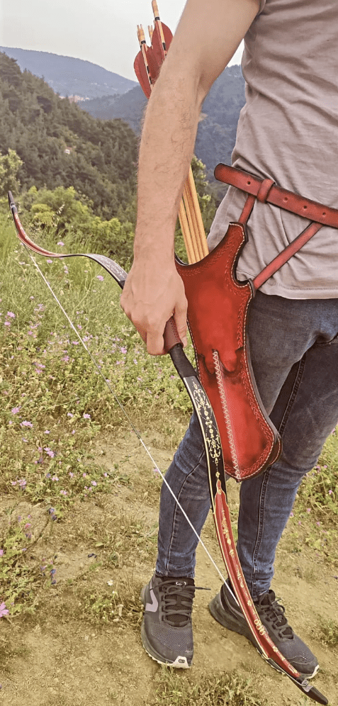
[[(50, 252), (49, 250), (45, 250), (44, 248), (40, 247), (39, 245), (36, 245), (33, 242), (33, 240), (31, 240), (30, 237), (28, 237), (28, 235), (26, 235), (25, 230), (23, 230), (23, 227), (21, 225), (21, 221), (18, 217), (18, 210), (16, 208), (16, 204), (13, 201), (13, 196), (12, 196), (11, 192), (9, 192), (9, 206), (11, 208), (14, 223), (16, 225), (16, 232), (17, 232), (18, 238), (19, 238), (19, 240), (21, 240), (21, 242), (23, 242), (23, 245), (26, 245), (26, 247), (28, 247), (30, 250), (33, 250), (33, 252), (36, 252), (38, 254), (43, 254), (46, 257), (56, 257), (56, 258), (88, 257), (89, 259), (92, 259), (95, 262), (98, 262), (98, 264), (101, 264), (101, 266), (104, 267), (104, 269), (106, 269), (106, 271), (108, 271), (108, 273), (111, 274), (111, 276), (113, 276), (113, 279), (116, 280), (116, 282), (118, 283), (120, 288), (123, 288), (123, 286), (125, 284), (125, 279), (127, 278), (127, 273), (116, 262), (113, 262), (113, 260), (111, 260), (109, 257), (106, 257), (105, 255), (101, 255), (101, 254), (87, 254), (87, 253), (61, 254), (61, 253)], [(40, 271), (40, 268), (36, 264), (35, 260), (33, 260), (33, 262), (35, 264), (35, 267), (37, 267), (38, 271)], [(43, 273), (41, 271), (40, 271), (40, 274), (43, 276)], [(69, 316), (65, 312), (60, 301), (57, 299), (57, 296), (52, 291), (52, 288), (51, 288), (50, 284), (47, 282), (47, 280), (45, 279), (45, 276), (43, 276), (43, 279), (45, 280), (47, 286), (50, 288), (50, 291), (52, 292), (52, 296), (54, 296), (58, 305), (62, 309), (64, 315), (66, 316), (67, 320), (69, 321), (69, 324), (72, 326), (72, 329), (77, 334), (77, 337), (81, 341), (81, 344), (83, 344), (84, 349), (86, 350), (86, 352), (89, 353), (89, 356), (91, 357), (91, 360), (93, 361), (94, 365), (96, 366), (96, 369), (98, 370), (99, 374), (101, 375), (101, 377), (105, 381), (105, 383), (108, 386), (111, 393), (113, 393), (113, 396), (116, 399), (118, 405), (120, 406), (120, 409), (123, 410), (123, 414), (128, 419), (128, 422), (132, 426), (138, 439), (140, 439), (140, 442), (141, 442), (142, 446), (144, 447), (145, 451), (147, 452), (148, 456), (150, 456), (152, 463), (154, 464), (154, 466), (158, 467), (156, 462), (152, 458), (152, 454), (150, 454), (149, 449), (147, 449), (145, 443), (143, 442), (142, 438), (140, 437), (139, 432), (137, 432), (135, 426), (133, 425), (133, 422), (130, 420), (128, 414), (126, 413), (125, 409), (123, 408), (123, 405), (120, 403), (120, 400), (118, 400), (116, 393), (113, 391), (113, 388), (111, 388), (110, 384), (107, 383), (106, 379), (103, 376), (103, 373), (98, 368), (98, 365), (97, 365), (96, 361), (94, 360), (94, 357), (91, 356), (91, 353), (90, 353), (89, 349), (86, 347), (86, 344), (82, 340), (81, 336), (79, 335), (79, 332), (77, 331), (76, 327), (74, 326), (74, 324), (70, 320)], [(240, 608), (244, 614), (245, 619), (247, 620), (247, 624), (252, 632), (252, 635), (253, 635), (255, 641), (257, 642), (258, 649), (259, 649), (261, 655), (264, 657), (264, 659), (266, 659), (266, 661), (269, 664), (271, 664), (271, 666), (278, 668), (278, 671), (285, 673), (289, 678), (291, 678), (293, 683), (295, 683), (295, 685), (305, 695), (307, 695), (308, 697), (310, 697), (312, 700), (316, 701), (317, 703), (326, 705), (327, 699), (325, 698), (325, 696), (323, 696), (315, 687), (310, 685), (310, 683), (308, 683), (308, 680), (303, 679), (300, 676), (300, 674), (298, 673), (298, 671), (296, 671), (295, 668), (293, 668), (293, 666), (290, 663), (288, 663), (288, 661), (281, 654), (281, 652), (278, 651), (278, 649), (276, 648), (276, 645), (274, 644), (274, 642), (271, 640), (271, 638), (267, 634), (266, 629), (265, 629), (264, 625), (261, 623), (259, 615), (257, 614), (257, 610), (254, 607), (254, 603), (252, 601), (251, 595), (249, 594), (249, 590), (248, 590), (247, 585), (245, 583), (244, 575), (242, 573), (242, 568), (240, 566), (240, 560), (238, 559), (238, 556), (237, 556), (235, 539), (232, 534), (232, 527), (231, 527), (231, 521), (230, 521), (230, 511), (229, 511), (229, 506), (227, 504), (227, 491), (226, 491), (226, 486), (225, 486), (225, 470), (224, 470), (224, 461), (223, 461), (223, 455), (222, 455), (222, 445), (220, 442), (218, 425), (217, 425), (217, 422), (215, 419), (215, 415), (213, 413), (213, 408), (210, 405), (210, 402), (209, 402), (208, 397), (204, 391), (203, 386), (201, 385), (200, 381), (198, 380), (198, 377), (196, 375), (196, 371), (193, 368), (193, 366), (191, 365), (191, 362), (188, 361), (188, 358), (186, 357), (186, 354), (184, 353), (183, 344), (182, 344), (182, 342), (179, 338), (179, 335), (177, 333), (174, 318), (172, 318), (172, 317), (167, 322), (167, 325), (164, 330), (164, 348), (170, 354), (171, 360), (174, 363), (176, 371), (178, 372), (179, 376), (181, 377), (181, 380), (183, 381), (184, 386), (186, 387), (186, 391), (188, 392), (188, 395), (191, 398), (191, 403), (193, 404), (193, 408), (196, 411), (196, 414), (198, 416), (198, 422), (201, 427), (201, 432), (202, 432), (203, 442), (204, 442), (204, 447), (205, 447), (205, 459), (206, 459), (207, 468), (208, 468), (210, 499), (211, 499), (211, 505), (212, 505), (212, 511), (213, 511), (213, 518), (215, 521), (216, 532), (217, 532), (217, 536), (218, 536), (218, 542), (220, 545), (222, 559), (225, 563), (225, 568), (227, 570), (227, 574), (228, 574), (230, 581), (232, 583), (232, 588), (235, 593), (235, 598), (237, 600), (237, 603), (240, 605)], [(198, 537), (198, 540), (201, 542), (203, 549), (205, 549), (206, 553), (208, 554), (209, 559), (212, 561), (213, 565), (215, 566), (216, 570), (218, 571), (220, 578), (222, 579), (223, 582), (225, 582), (225, 578), (222, 575), (222, 572), (220, 571), (217, 564), (213, 560), (213, 557), (210, 556), (208, 549), (205, 547), (205, 544), (202, 542), (201, 538), (199, 537), (198, 532), (196, 532), (195, 527), (193, 527), (193, 524), (192, 524), (190, 518), (188, 517), (188, 515), (186, 515), (186, 512), (185, 512), (184, 508), (182, 508), (181, 504), (179, 503), (178, 498), (176, 498), (176, 495), (171, 490), (165, 477), (162, 475), (162, 472), (159, 471), (159, 473), (162, 476), (164, 483), (166, 483), (167, 488), (169, 489), (169, 492), (174, 497), (174, 500), (175, 500), (176, 504), (178, 505), (179, 509), (184, 514), (184, 517), (186, 518), (188, 525), (190, 525), (194, 534), (196, 534), (196, 537)], [(225, 587), (233, 595), (232, 590), (230, 589), (230, 586), (226, 582), (225, 582)]]

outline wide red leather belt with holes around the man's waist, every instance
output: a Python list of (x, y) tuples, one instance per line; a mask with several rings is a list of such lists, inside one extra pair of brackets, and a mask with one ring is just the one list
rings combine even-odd
[(228, 167), (227, 164), (218, 164), (215, 168), (215, 178), (224, 181), (225, 184), (237, 186), (237, 189), (246, 191), (247, 194), (257, 196), (262, 203), (271, 203), (273, 206), (291, 211), (296, 215), (301, 215), (315, 223), (330, 225), (338, 228), (338, 209), (323, 206), (317, 201), (310, 201), (309, 198), (293, 194), (292, 191), (276, 186), (272, 179), (258, 179), (242, 169)]

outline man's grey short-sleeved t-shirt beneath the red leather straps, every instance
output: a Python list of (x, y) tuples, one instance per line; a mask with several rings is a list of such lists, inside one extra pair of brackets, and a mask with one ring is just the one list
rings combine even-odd
[[(338, 0), (261, 0), (244, 38), (246, 104), (232, 164), (338, 208)], [(230, 187), (210, 230), (210, 249), (240, 217)], [(308, 225), (256, 201), (237, 267), (253, 279)], [(291, 299), (338, 297), (338, 230), (323, 227), (261, 291)]]

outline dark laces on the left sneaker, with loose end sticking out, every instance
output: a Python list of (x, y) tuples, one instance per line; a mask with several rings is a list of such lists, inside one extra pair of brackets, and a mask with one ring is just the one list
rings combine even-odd
[(191, 620), (195, 591), (210, 588), (188, 585), (184, 581), (166, 581), (159, 586), (159, 590), (163, 594), (165, 622), (171, 627), (185, 627)]

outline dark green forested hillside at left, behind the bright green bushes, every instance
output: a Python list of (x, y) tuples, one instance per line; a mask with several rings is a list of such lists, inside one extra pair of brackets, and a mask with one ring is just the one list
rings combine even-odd
[(0, 53), (0, 152), (22, 160), (30, 186), (74, 187), (94, 211), (112, 218), (135, 194), (137, 138), (122, 121), (97, 121)]

